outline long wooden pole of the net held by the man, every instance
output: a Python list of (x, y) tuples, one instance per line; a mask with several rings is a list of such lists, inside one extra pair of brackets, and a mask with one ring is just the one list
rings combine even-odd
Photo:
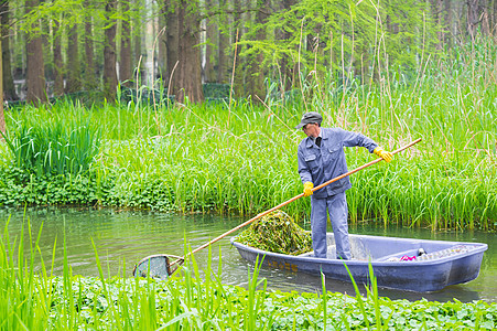
[[(412, 147), (413, 145), (415, 145), (415, 143), (418, 143), (418, 142), (420, 142), (420, 141), (421, 141), (421, 138), (419, 138), (419, 139), (412, 141), (412, 142), (410, 142), (410, 143), (408, 143), (408, 145), (406, 145), (406, 146), (399, 148), (398, 150), (392, 151), (391, 153), (392, 153), (392, 154), (397, 154), (397, 153), (399, 153), (399, 152), (401, 152), (401, 151), (403, 151), (403, 150), (406, 150), (406, 149)], [(370, 166), (372, 166), (372, 164), (376, 164), (376, 163), (378, 163), (378, 162), (380, 162), (380, 161), (382, 161), (382, 160), (383, 160), (383, 159), (378, 158), (378, 159), (376, 159), (376, 160), (374, 160), (374, 161), (371, 161), (371, 162), (368, 162), (368, 163), (366, 163), (366, 164), (364, 164), (364, 166), (360, 166), (359, 168), (356, 168), (356, 169), (350, 170), (350, 171), (348, 171), (348, 172), (346, 172), (346, 173), (344, 173), (344, 174), (341, 174), (341, 175), (338, 175), (338, 177), (335, 177), (334, 179), (328, 180), (327, 182), (324, 182), (324, 183), (322, 183), (321, 185), (315, 186), (314, 189), (312, 189), (312, 191), (314, 192), (314, 191), (316, 191), (316, 190), (323, 189), (324, 186), (329, 185), (329, 184), (333, 183), (333, 182), (336, 182), (336, 181), (338, 181), (338, 180), (341, 180), (341, 179), (343, 179), (343, 178), (345, 178), (345, 177), (347, 177), (347, 175), (350, 175), (350, 174), (353, 174), (353, 173), (356, 173), (357, 171), (360, 171), (360, 170), (363, 170), (363, 169), (365, 169), (365, 168), (368, 168), (368, 167), (370, 167)], [(252, 223), (253, 221), (257, 221), (257, 220), (259, 220), (260, 217), (266, 216), (267, 214), (269, 214), (269, 213), (271, 213), (271, 212), (273, 212), (273, 211), (275, 211), (275, 210), (281, 209), (282, 206), (285, 206), (287, 204), (289, 204), (289, 203), (291, 203), (291, 202), (293, 202), (293, 201), (295, 201), (295, 200), (298, 200), (298, 199), (300, 199), (300, 197), (302, 197), (302, 196), (304, 196), (304, 193), (301, 193), (301, 194), (299, 194), (299, 195), (295, 195), (295, 196), (293, 196), (292, 199), (287, 200), (285, 202), (280, 203), (279, 205), (273, 206), (272, 209), (269, 209), (269, 210), (267, 210), (266, 212), (262, 212), (262, 213), (258, 214), (257, 216), (255, 216), (255, 217), (252, 217), (252, 218), (250, 218), (250, 220), (248, 220), (248, 221), (246, 221), (246, 222), (239, 224), (238, 226), (231, 228), (230, 231), (225, 232), (224, 234), (219, 235), (218, 237), (212, 239), (210, 242), (208, 242), (208, 243), (206, 243), (206, 244), (204, 244), (204, 245), (202, 245), (202, 246), (195, 248), (194, 250), (192, 250), (192, 252), (190, 252), (188, 254), (186, 254), (183, 258), (179, 258), (179, 259), (174, 260), (170, 266), (174, 266), (174, 265), (177, 264), (179, 261), (185, 260), (185, 258), (188, 257), (190, 255), (195, 254), (195, 253), (197, 253), (197, 252), (201, 250), (201, 249), (204, 249), (205, 247), (207, 247), (207, 246), (209, 246), (209, 245), (216, 243), (217, 241), (223, 239), (223, 238), (226, 237), (227, 235), (229, 235), (229, 234), (231, 234), (231, 233), (234, 233), (234, 232), (240, 229), (241, 227), (245, 227), (245, 226), (249, 225), (249, 224)]]

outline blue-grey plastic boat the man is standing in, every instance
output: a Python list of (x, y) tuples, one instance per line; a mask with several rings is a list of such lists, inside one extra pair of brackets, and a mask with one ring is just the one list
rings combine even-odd
[[(328, 256), (298, 256), (260, 250), (231, 238), (241, 257), (270, 268), (307, 273), (350, 282), (370, 284), (369, 264), (378, 287), (433, 292), (478, 277), (487, 244), (349, 234), (350, 260), (336, 259), (333, 233), (326, 234)], [(333, 257), (333, 258), (332, 258)], [(347, 267), (347, 268), (346, 268)]]

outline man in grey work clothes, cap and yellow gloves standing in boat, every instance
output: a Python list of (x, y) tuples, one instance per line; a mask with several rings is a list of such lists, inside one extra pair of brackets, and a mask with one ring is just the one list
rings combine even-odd
[(323, 117), (315, 113), (306, 113), (295, 129), (302, 128), (307, 138), (299, 145), (299, 173), (304, 184), (304, 196), (311, 196), (311, 229), (314, 256), (326, 258), (326, 222), (327, 214), (332, 222), (336, 243), (336, 258), (350, 259), (348, 242), (347, 200), (345, 191), (352, 188), (348, 177), (331, 183), (314, 192), (320, 185), (335, 177), (347, 172), (344, 147), (360, 146), (367, 148), (390, 162), (391, 152), (385, 151), (368, 137), (343, 130), (341, 128), (321, 128)]

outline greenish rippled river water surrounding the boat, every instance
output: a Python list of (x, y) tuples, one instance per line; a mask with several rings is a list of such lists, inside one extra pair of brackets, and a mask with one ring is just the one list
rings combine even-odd
[[(106, 275), (125, 275), (130, 277), (136, 263), (153, 254), (173, 254), (183, 256), (184, 243), (192, 248), (198, 247), (209, 239), (237, 226), (246, 218), (220, 217), (213, 215), (179, 216), (155, 212), (129, 212), (116, 210), (93, 209), (28, 209), (0, 210), (0, 225), (9, 220), (9, 236), (21, 233), (22, 224), (29, 221), (32, 227), (32, 242), (36, 239), (43, 226), (40, 248), (45, 266), (50, 268), (55, 246), (54, 274), (61, 275), (63, 269), (63, 245), (66, 242), (68, 261), (74, 275), (98, 276), (95, 250)], [(485, 300), (497, 302), (497, 234), (480, 232), (437, 232), (423, 228), (375, 227), (371, 225), (350, 227), (350, 233), (380, 236), (397, 236), (410, 238), (426, 238), (457, 242), (478, 242), (488, 244), (485, 253), (480, 275), (477, 279), (464, 284), (450, 286), (433, 293), (414, 293), (400, 290), (380, 289), (379, 293), (391, 299), (447, 301), (456, 298), (463, 302)], [(3, 235), (3, 234), (2, 234)], [(30, 243), (25, 232), (24, 243)], [(246, 286), (247, 274), (252, 270), (252, 264), (242, 259), (238, 252), (229, 244), (227, 236), (213, 245), (213, 266), (219, 261), (219, 249), (223, 259), (223, 282)], [(208, 249), (198, 252), (196, 260), (205, 267), (208, 260)], [(36, 261), (40, 266), (40, 261)], [(217, 268), (215, 268), (217, 269)], [(320, 292), (321, 279), (306, 274), (295, 274), (285, 270), (262, 268), (260, 277), (268, 280), (270, 290)], [(326, 279), (329, 291), (354, 295), (354, 288), (348, 282)], [(363, 289), (364, 287), (361, 287)], [(364, 290), (365, 292), (365, 290)]]

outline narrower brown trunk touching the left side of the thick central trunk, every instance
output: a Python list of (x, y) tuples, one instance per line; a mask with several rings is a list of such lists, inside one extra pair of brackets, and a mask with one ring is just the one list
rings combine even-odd
[[(174, 82), (174, 75), (177, 74), (173, 73), (174, 66), (176, 65), (176, 62), (179, 60), (179, 26), (177, 26), (177, 6), (173, 7), (171, 6), (171, 0), (164, 0), (165, 1), (165, 26), (166, 26), (166, 39), (165, 39), (165, 47), (166, 47), (166, 79), (168, 85), (170, 84), (170, 81)], [(172, 83), (171, 82), (171, 83)], [(174, 84), (171, 84), (171, 90), (168, 92), (170, 95), (173, 95), (176, 93)]]

